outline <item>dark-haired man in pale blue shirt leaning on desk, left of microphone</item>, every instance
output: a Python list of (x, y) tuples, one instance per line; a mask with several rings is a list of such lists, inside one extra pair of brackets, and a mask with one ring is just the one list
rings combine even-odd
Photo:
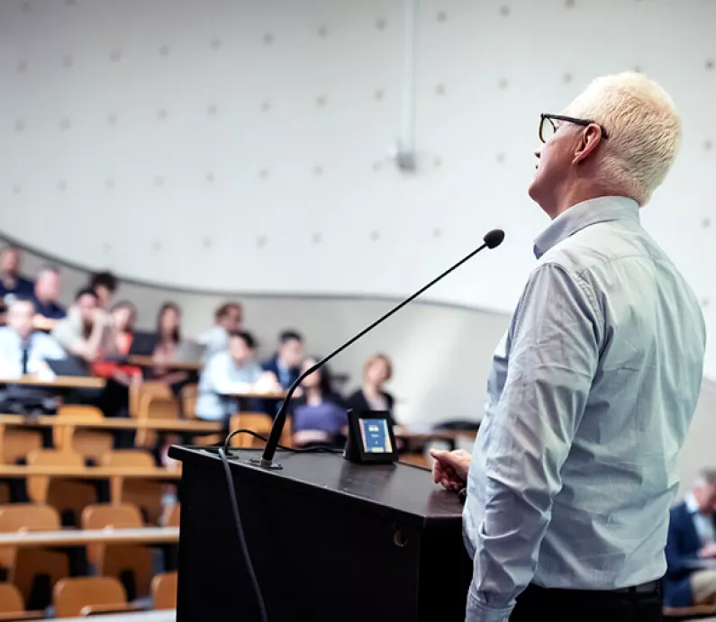
[(229, 347), (214, 354), (204, 365), (199, 378), (196, 416), (199, 419), (223, 419), (239, 411), (239, 399), (231, 393), (249, 392), (264, 374), (256, 362), (256, 341), (246, 331), (232, 330)]

